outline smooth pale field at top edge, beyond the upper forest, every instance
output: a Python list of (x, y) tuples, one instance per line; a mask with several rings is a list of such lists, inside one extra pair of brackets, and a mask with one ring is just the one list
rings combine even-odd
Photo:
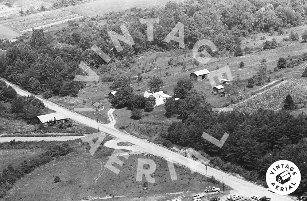
[[(65, 8), (82, 16), (101, 16), (105, 13), (116, 12), (132, 7), (149, 8), (153, 6), (165, 5), (171, 0), (99, 0), (77, 6)], [(183, 2), (183, 0), (173, 0), (175, 2)]]

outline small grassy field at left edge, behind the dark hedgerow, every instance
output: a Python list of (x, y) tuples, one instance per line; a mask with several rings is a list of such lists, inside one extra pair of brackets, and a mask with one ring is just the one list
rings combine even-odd
[(0, 173), (2, 173), (3, 169), (5, 169), (8, 165), (16, 167), (24, 160), (27, 160), (32, 156), (37, 156), (42, 152), (43, 151), (41, 149), (0, 150)]

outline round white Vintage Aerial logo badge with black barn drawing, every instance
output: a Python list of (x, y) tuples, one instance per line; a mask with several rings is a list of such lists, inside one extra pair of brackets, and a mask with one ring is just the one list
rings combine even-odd
[(266, 172), (266, 183), (273, 192), (288, 195), (300, 185), (301, 172), (291, 161), (276, 161)]

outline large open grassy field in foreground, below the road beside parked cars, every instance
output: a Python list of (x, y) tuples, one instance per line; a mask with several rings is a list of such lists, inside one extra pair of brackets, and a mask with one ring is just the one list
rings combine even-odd
[[(83, 143), (83, 145), (86, 145)], [(113, 164), (120, 170), (115, 174), (104, 165), (114, 149), (100, 146), (92, 157), (88, 146), (75, 148), (74, 153), (37, 168), (17, 181), (3, 200), (169, 200), (177, 197), (190, 199), (192, 194), (203, 192), (205, 176), (191, 174), (187, 168), (175, 165), (177, 180), (171, 180), (167, 162), (151, 155), (130, 155), (128, 159), (119, 157), (122, 166)], [(156, 170), (151, 176), (155, 183), (136, 181), (139, 158), (153, 160)], [(77, 165), (76, 165), (77, 164)], [(146, 168), (146, 165), (145, 167)], [(62, 182), (54, 183), (59, 176)], [(221, 187), (221, 184), (214, 184)], [(228, 192), (230, 189), (226, 187)], [(207, 194), (221, 196), (223, 193)]]

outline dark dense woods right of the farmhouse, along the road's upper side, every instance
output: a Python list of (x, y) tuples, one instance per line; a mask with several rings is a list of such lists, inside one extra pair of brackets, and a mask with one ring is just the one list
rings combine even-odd
[[(175, 97), (182, 100), (165, 103), (165, 115), (177, 115), (182, 121), (168, 127), (167, 134), (161, 136), (165, 139), (163, 144), (192, 147), (208, 154), (212, 166), (264, 186), (266, 171), (273, 162), (292, 161), (302, 173), (301, 184), (293, 194), (307, 193), (307, 177), (303, 174), (307, 172), (306, 114), (294, 117), (286, 110), (262, 109), (252, 115), (237, 111), (212, 112), (204, 95), (196, 93), (189, 82), (181, 80), (175, 87)], [(188, 85), (190, 91), (185, 87)], [(187, 97), (181, 96), (183, 91)], [(216, 139), (221, 139), (225, 132), (229, 137), (219, 148), (201, 137), (204, 132)]]

